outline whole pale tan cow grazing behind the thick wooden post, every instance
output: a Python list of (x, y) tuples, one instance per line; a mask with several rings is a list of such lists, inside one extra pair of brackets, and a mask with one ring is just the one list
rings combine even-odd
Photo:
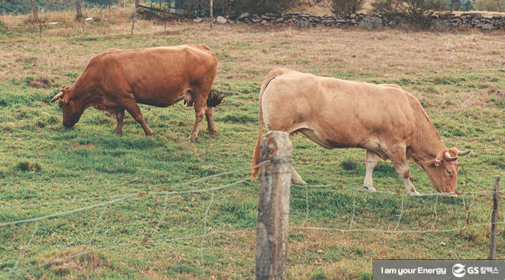
[[(421, 166), (441, 193), (456, 195), (458, 155), (470, 151), (445, 148), (426, 112), (412, 94), (397, 85), (318, 77), (275, 69), (260, 90), (260, 133), (253, 155), (253, 179), (260, 163), (264, 123), (268, 130), (301, 132), (324, 148), (364, 148), (363, 186), (375, 191), (372, 172), (377, 157), (391, 160), (410, 195), (407, 161)], [(305, 182), (291, 167), (292, 181)]]

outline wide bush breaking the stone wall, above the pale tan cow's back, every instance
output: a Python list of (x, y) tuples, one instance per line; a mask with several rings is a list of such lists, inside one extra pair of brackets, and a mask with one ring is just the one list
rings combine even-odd
[(427, 27), (431, 16), (447, 9), (445, 0), (377, 0), (372, 3), (375, 12), (399, 16), (415, 27)]

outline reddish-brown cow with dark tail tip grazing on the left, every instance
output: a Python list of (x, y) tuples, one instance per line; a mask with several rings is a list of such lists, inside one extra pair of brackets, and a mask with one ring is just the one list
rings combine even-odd
[(217, 58), (207, 45), (110, 49), (93, 57), (74, 85), (65, 87), (51, 102), (60, 100), (65, 127), (73, 127), (85, 109), (95, 107), (116, 114), (116, 133), (123, 130), (126, 110), (151, 135), (137, 103), (167, 107), (184, 100), (195, 109), (189, 135), (194, 140), (203, 115), (210, 134), (215, 135), (212, 107), (222, 101), (219, 94), (210, 93), (216, 69)]

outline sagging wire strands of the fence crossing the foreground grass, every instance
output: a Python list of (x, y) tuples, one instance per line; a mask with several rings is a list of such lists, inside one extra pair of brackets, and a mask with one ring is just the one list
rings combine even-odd
[[(290, 160), (290, 159), (287, 159), (287, 160)], [(189, 186), (191, 184), (199, 183), (199, 182), (206, 181), (209, 179), (214, 179), (214, 178), (217, 178), (220, 176), (234, 174), (236, 172), (248, 171), (251, 168), (260, 167), (264, 164), (267, 164), (268, 162), (270, 162), (270, 161), (261, 162), (259, 165), (256, 165), (255, 167), (247, 167), (247, 168), (231, 170), (228, 172), (222, 172), (220, 174), (213, 174), (210, 176), (203, 177), (201, 179), (196, 179), (193, 181), (179, 183), (173, 187), (180, 188), (183, 186)], [(365, 163), (366, 163), (366, 161), (365, 161)], [(464, 168), (463, 168), (463, 170), (464, 170)], [(347, 186), (344, 186), (341, 183), (318, 184), (318, 185), (292, 184), (291, 186), (293, 186), (295, 188), (302, 188), (305, 190), (305, 194), (304, 194), (305, 195), (305, 197), (304, 197), (304, 202), (305, 202), (305, 211), (304, 211), (305, 213), (304, 214), (305, 215), (304, 215), (304, 221), (302, 222), (301, 225), (291, 225), (290, 228), (295, 229), (295, 230), (328, 230), (328, 231), (342, 232), (344, 234), (346, 234), (348, 232), (376, 232), (376, 233), (382, 233), (382, 234), (413, 234), (413, 233), (422, 234), (422, 233), (441, 233), (441, 232), (462, 232), (462, 230), (469, 229), (471, 231), (471, 235), (473, 235), (473, 231), (471, 230), (472, 228), (478, 227), (478, 226), (490, 225), (490, 223), (473, 223), (473, 224), (470, 223), (470, 218), (471, 218), (470, 209), (471, 209), (471, 206), (473, 205), (473, 202), (476, 202), (476, 195), (492, 194), (492, 193), (495, 193), (495, 191), (494, 190), (478, 190), (478, 191), (466, 192), (466, 187), (467, 187), (466, 172), (464, 172), (464, 176), (465, 176), (464, 191), (462, 193), (457, 193), (457, 194), (462, 196), (462, 204), (463, 204), (463, 207), (464, 207), (466, 213), (465, 213), (464, 222), (462, 223), (462, 225), (457, 225), (457, 227), (455, 227), (455, 228), (436, 229), (436, 223), (439, 221), (439, 216), (438, 216), (439, 197), (453, 195), (454, 193), (425, 193), (425, 194), (421, 194), (421, 195), (415, 195), (415, 197), (435, 197), (435, 202), (433, 204), (433, 213), (435, 215), (435, 218), (433, 219), (433, 222), (431, 223), (431, 225), (429, 225), (428, 229), (400, 230), (400, 225), (402, 224), (403, 216), (405, 213), (405, 197), (408, 197), (408, 195), (406, 195), (406, 194), (399, 195), (397, 192), (388, 191), (388, 190), (377, 190), (374, 192), (370, 192), (369, 190), (365, 190), (363, 188), (349, 188)], [(240, 232), (247, 232), (249, 230), (255, 230), (255, 228), (245, 228), (243, 230), (232, 230), (232, 231), (209, 230), (209, 227), (208, 227), (209, 213), (210, 213), (211, 207), (214, 204), (215, 192), (217, 190), (230, 188), (231, 186), (236, 186), (236, 185), (243, 183), (245, 181), (248, 181), (248, 178), (240, 179), (238, 181), (234, 181), (232, 183), (227, 183), (222, 186), (215, 186), (215, 187), (211, 187), (211, 188), (203, 188), (203, 189), (196, 189), (196, 190), (154, 190), (154, 191), (147, 191), (147, 192), (126, 193), (126, 194), (122, 194), (122, 195), (118, 194), (118, 195), (107, 195), (107, 196), (100, 196), (100, 197), (88, 197), (88, 198), (81, 198), (81, 199), (74, 199), (74, 200), (59, 200), (56, 202), (5, 205), (4, 207), (0, 208), (0, 211), (4, 210), (4, 209), (20, 209), (20, 208), (25, 209), (25, 208), (32, 208), (32, 207), (49, 207), (49, 206), (54, 206), (54, 205), (58, 205), (58, 204), (65, 204), (65, 203), (80, 203), (80, 202), (90, 202), (90, 201), (94, 201), (94, 200), (108, 200), (106, 202), (91, 204), (86, 207), (79, 207), (79, 208), (71, 209), (68, 211), (60, 211), (57, 213), (48, 214), (48, 215), (39, 216), (39, 217), (26, 218), (26, 219), (21, 219), (21, 220), (17, 220), (17, 221), (8, 221), (8, 222), (0, 223), (0, 227), (4, 227), (4, 226), (8, 226), (8, 225), (20, 225), (23, 223), (37, 222), (36, 225), (34, 226), (34, 230), (32, 232), (31, 238), (29, 239), (27, 244), (24, 246), (24, 248), (22, 248), (22, 252), (20, 253), (20, 258), (18, 258), (18, 260), (15, 262), (15, 265), (13, 266), (13, 268), (9, 269), (9, 270), (4, 270), (1, 272), (8, 273), (8, 274), (16, 274), (16, 273), (22, 272), (23, 270), (26, 270), (26, 269), (40, 268), (43, 265), (57, 264), (60, 262), (65, 262), (67, 260), (72, 260), (74, 258), (81, 257), (83, 255), (86, 255), (85, 262), (87, 265), (88, 255), (89, 255), (90, 251), (92, 250), (92, 248), (95, 246), (93, 244), (93, 241), (94, 241), (95, 236), (97, 234), (98, 225), (102, 221), (102, 218), (105, 215), (105, 211), (107, 211), (108, 207), (112, 204), (123, 202), (125, 200), (129, 200), (134, 197), (163, 195), (164, 196), (163, 211), (162, 211), (161, 216), (158, 219), (158, 223), (156, 223), (156, 226), (154, 228), (154, 230), (156, 230), (156, 232), (159, 233), (161, 223), (163, 223), (163, 221), (166, 221), (166, 216), (167, 216), (167, 212), (168, 212), (168, 197), (169, 197), (169, 195), (210, 193), (211, 194), (210, 200), (208, 201), (208, 205), (206, 207), (206, 210), (203, 213), (203, 234), (202, 235), (171, 237), (171, 238), (158, 237), (156, 239), (150, 239), (150, 240), (148, 238), (150, 236), (145, 235), (144, 239), (142, 241), (138, 241), (137, 243), (123, 243), (123, 244), (116, 244), (113, 246), (105, 246), (105, 247), (99, 248), (102, 251), (105, 251), (105, 250), (109, 251), (109, 250), (115, 250), (117, 248), (124, 248), (127, 246), (138, 246), (138, 244), (144, 245), (144, 244), (153, 244), (156, 242), (169, 243), (169, 242), (173, 242), (173, 241), (201, 239), (200, 244), (199, 244), (200, 254), (201, 254), (200, 257), (201, 257), (201, 266), (204, 267), (205, 262), (203, 259), (203, 247), (204, 247), (207, 237), (210, 237), (213, 235), (236, 235)], [(319, 188), (329, 188), (329, 187), (337, 188), (337, 190), (352, 191), (352, 196), (353, 196), (352, 197), (352, 214), (351, 214), (351, 218), (349, 220), (349, 226), (347, 228), (307, 226), (307, 223), (309, 222), (309, 219), (310, 219), (310, 215), (309, 215), (309, 211), (310, 211), (310, 209), (309, 209), (309, 189), (319, 189)], [(378, 229), (378, 228), (357, 228), (357, 226), (356, 226), (357, 224), (356, 224), (355, 220), (357, 217), (357, 215), (356, 215), (356, 196), (357, 196), (358, 192), (366, 192), (366, 193), (370, 193), (370, 194), (386, 194), (386, 195), (393, 195), (395, 197), (399, 196), (401, 198), (400, 213), (398, 214), (398, 221), (396, 221), (396, 226), (393, 230), (390, 230), (389, 227), (386, 230)], [(500, 193), (503, 193), (503, 191), (501, 191)], [(471, 196), (473, 198), (473, 200), (471, 202), (467, 202), (466, 196)], [(18, 267), (20, 260), (22, 258), (23, 251), (27, 251), (29, 246), (32, 244), (32, 241), (36, 237), (36, 232), (39, 229), (39, 224), (41, 223), (41, 221), (48, 220), (51, 218), (59, 218), (62, 216), (67, 216), (69, 214), (74, 214), (77, 212), (82, 212), (82, 211), (86, 211), (89, 209), (95, 209), (95, 208), (99, 208), (99, 207), (102, 207), (102, 211), (100, 212), (100, 216), (98, 216), (97, 221), (95, 222), (95, 225), (93, 228), (93, 234), (91, 235), (90, 241), (86, 245), (85, 251), (70, 254), (70, 255), (67, 255), (63, 258), (59, 258), (57, 260), (50, 260), (49, 262), (44, 262), (44, 263), (36, 265), (36, 266), (34, 266), (32, 264), (27, 264), (27, 266), (25, 266), (25, 267)], [(505, 225), (505, 213), (503, 216), (503, 222), (497, 222), (494, 224)], [(145, 243), (144, 243), (144, 241), (145, 241)], [(283, 271), (285, 271), (285, 269), (286, 269), (286, 267), (283, 267), (282, 271), (276, 272), (276, 274), (277, 273), (281, 274)]]

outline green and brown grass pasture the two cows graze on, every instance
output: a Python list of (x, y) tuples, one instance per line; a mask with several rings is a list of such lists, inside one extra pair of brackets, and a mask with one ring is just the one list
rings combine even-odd
[[(103, 12), (88, 26), (88, 36), (80, 38), (71, 13), (44, 16), (61, 23), (44, 29), (41, 38), (23, 17), (0, 19), (0, 223), (114, 199), (103, 196), (139, 195), (59, 218), (0, 227), (2, 279), (252, 279), (257, 182), (206, 193), (142, 193), (248, 179), (243, 170), (180, 186), (248, 167), (257, 136), (260, 83), (276, 67), (401, 85), (422, 102), (446, 146), (473, 150), (460, 160), (466, 172), (466, 179), (460, 175), (466, 183), (460, 182), (460, 190), (492, 190), (493, 176), (504, 175), (503, 32), (246, 25), (210, 30), (203, 23), (180, 22), (164, 33), (162, 26), (138, 21), (130, 36), (127, 11), (113, 10)], [(154, 137), (144, 137), (130, 116), (118, 136), (115, 120), (92, 109), (73, 129), (62, 127), (61, 111), (50, 99), (74, 82), (91, 57), (113, 47), (181, 43), (206, 43), (219, 59), (214, 87), (227, 98), (215, 112), (217, 137), (201, 130), (198, 141), (186, 141), (194, 111), (182, 104), (141, 106)], [(40, 78), (53, 80), (51, 86), (28, 85)], [(361, 186), (364, 151), (325, 150), (302, 136), (292, 142), (295, 168), (309, 184)], [(422, 170), (411, 167), (417, 190), (433, 193)], [(376, 169), (375, 185), (404, 193), (393, 167), (385, 163)], [(353, 228), (391, 230), (401, 201), (400, 196), (337, 186), (307, 192), (293, 186), (290, 223), (349, 228), (353, 219)], [(49, 204), (31, 205), (43, 202)], [(459, 228), (466, 216), (464, 203), (470, 205), (473, 226), (422, 234), (292, 229), (288, 279), (372, 279), (372, 259), (487, 258), (490, 226), (477, 224), (490, 220), (490, 194), (405, 197), (404, 202), (398, 230)], [(505, 219), (503, 212), (499, 217)], [(503, 225), (499, 235), (497, 255), (505, 258)]]

